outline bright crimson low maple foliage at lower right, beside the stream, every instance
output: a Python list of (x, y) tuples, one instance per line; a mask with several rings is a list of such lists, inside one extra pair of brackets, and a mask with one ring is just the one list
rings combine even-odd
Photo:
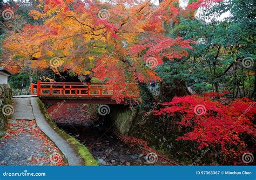
[(163, 105), (166, 107), (154, 111), (156, 115), (182, 117), (176, 121), (183, 132), (177, 141), (196, 142), (199, 149), (210, 147), (212, 154), (223, 157), (223, 163), (241, 163), (240, 157), (247, 147), (245, 137), (256, 136), (253, 125), (256, 107), (250, 99), (223, 105), (207, 94), (205, 97), (189, 95), (174, 97)]

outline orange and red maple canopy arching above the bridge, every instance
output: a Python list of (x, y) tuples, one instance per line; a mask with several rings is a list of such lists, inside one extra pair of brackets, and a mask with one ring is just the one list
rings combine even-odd
[[(163, 23), (178, 23), (179, 10), (176, 0), (158, 7), (150, 1), (39, 1), (29, 13), (36, 23), (10, 32), (3, 47), (10, 66), (21, 70), (51, 68), (100, 82), (149, 83), (160, 80), (154, 68), (163, 57), (180, 59), (192, 49), (190, 40), (164, 33)], [(58, 66), (52, 66), (55, 57)]]

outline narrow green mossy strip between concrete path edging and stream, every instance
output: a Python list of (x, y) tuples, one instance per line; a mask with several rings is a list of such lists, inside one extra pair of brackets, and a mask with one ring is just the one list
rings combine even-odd
[(48, 121), (48, 124), (55, 129), (55, 131), (62, 136), (62, 138), (65, 139), (66, 142), (69, 143), (69, 145), (75, 150), (75, 152), (79, 155), (79, 157), (83, 160), (84, 165), (98, 165), (97, 161), (93, 158), (92, 154), (89, 152), (89, 150), (82, 145), (82, 143), (78, 142), (75, 138), (73, 138), (71, 135), (65, 133), (61, 129), (59, 129), (51, 120), (51, 117), (49, 116), (48, 112), (46, 111), (44, 104), (42, 101), (38, 98), (37, 103), (40, 106), (40, 109), (42, 113), (44, 114), (45, 119)]

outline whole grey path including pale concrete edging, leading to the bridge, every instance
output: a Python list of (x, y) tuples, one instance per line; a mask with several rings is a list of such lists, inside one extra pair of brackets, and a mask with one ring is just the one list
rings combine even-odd
[(16, 96), (14, 100), (8, 133), (0, 138), (0, 165), (66, 165), (64, 156), (69, 165), (82, 165), (70, 145), (48, 125), (36, 98)]

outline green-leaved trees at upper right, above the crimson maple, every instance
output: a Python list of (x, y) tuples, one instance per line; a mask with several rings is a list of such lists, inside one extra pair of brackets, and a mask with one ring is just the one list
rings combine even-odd
[[(233, 0), (208, 8), (203, 20), (179, 16), (179, 24), (166, 26), (167, 34), (196, 42), (194, 49), (186, 60), (164, 62), (157, 68), (158, 75), (166, 83), (185, 81), (198, 93), (229, 89), (233, 97), (250, 97), (253, 69), (244, 68), (242, 60), (256, 57), (254, 7), (254, 1)], [(232, 16), (222, 21), (212, 18), (228, 10)]]

